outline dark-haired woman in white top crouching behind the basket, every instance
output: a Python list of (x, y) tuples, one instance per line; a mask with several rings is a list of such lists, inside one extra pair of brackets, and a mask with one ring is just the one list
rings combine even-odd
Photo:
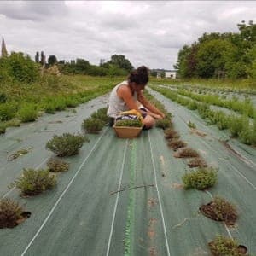
[[(144, 128), (149, 129), (154, 126), (155, 119), (163, 119), (165, 114), (158, 108), (155, 108), (143, 96), (143, 90), (148, 83), (148, 68), (145, 66), (138, 67), (128, 76), (127, 81), (116, 85), (108, 102), (108, 116), (114, 119), (119, 113), (135, 109), (143, 115)], [(143, 105), (144, 109), (137, 106), (137, 102)], [(146, 111), (145, 111), (146, 110)]]

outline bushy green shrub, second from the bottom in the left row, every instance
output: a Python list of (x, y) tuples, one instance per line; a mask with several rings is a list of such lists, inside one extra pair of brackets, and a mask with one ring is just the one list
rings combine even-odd
[(15, 181), (15, 186), (20, 189), (21, 195), (38, 195), (56, 185), (55, 175), (49, 170), (23, 169), (23, 174)]

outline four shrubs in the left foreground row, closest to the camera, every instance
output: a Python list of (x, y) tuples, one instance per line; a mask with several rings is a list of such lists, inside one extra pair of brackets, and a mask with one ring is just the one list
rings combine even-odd
[[(53, 136), (46, 143), (46, 148), (53, 151), (58, 157), (65, 157), (79, 154), (79, 148), (85, 142), (89, 142), (86, 136), (63, 133), (61, 136)], [(19, 189), (22, 197), (39, 195), (46, 190), (54, 189), (57, 179), (52, 172), (67, 172), (69, 169), (69, 163), (58, 157), (51, 157), (47, 162), (46, 169), (24, 168), (21, 176), (11, 184), (11, 187), (15, 186), (16, 189)], [(0, 200), (0, 229), (14, 228), (30, 215), (31, 212), (26, 212), (17, 201), (9, 198)]]

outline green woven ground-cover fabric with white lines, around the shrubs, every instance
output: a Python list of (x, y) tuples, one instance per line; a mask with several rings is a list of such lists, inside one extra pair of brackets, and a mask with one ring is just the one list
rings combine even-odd
[[(204, 191), (183, 189), (183, 175), (193, 171), (189, 160), (174, 156), (162, 129), (120, 139), (106, 126), (88, 135), (90, 142), (78, 155), (65, 158), (70, 170), (57, 174), (55, 189), (21, 197), (9, 188), (22, 168), (46, 166), (53, 154), (45, 144), (53, 135), (82, 132), (83, 119), (106, 107), (108, 95), (97, 96), (76, 111), (44, 114), (0, 136), (0, 196), (32, 212), (14, 229), (0, 230), (0, 255), (210, 255), (207, 243), (216, 235), (256, 252), (256, 148), (207, 125), (195, 110), (148, 91), (172, 113), (173, 128), (183, 141), (218, 169), (218, 183)], [(29, 152), (9, 160), (21, 148)], [(200, 213), (201, 205), (216, 195), (236, 206), (235, 225)]]

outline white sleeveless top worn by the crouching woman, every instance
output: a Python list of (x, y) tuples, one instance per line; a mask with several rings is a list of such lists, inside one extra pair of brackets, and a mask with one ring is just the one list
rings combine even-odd
[[(108, 116), (112, 118), (116, 118), (120, 112), (127, 111), (129, 108), (127, 107), (126, 103), (117, 95), (117, 90), (119, 89), (119, 86), (126, 85), (128, 86), (128, 81), (123, 81), (120, 84), (117, 84), (109, 96), (108, 101)], [(137, 101), (137, 92), (134, 92), (134, 95), (132, 96), (134, 101)]]

